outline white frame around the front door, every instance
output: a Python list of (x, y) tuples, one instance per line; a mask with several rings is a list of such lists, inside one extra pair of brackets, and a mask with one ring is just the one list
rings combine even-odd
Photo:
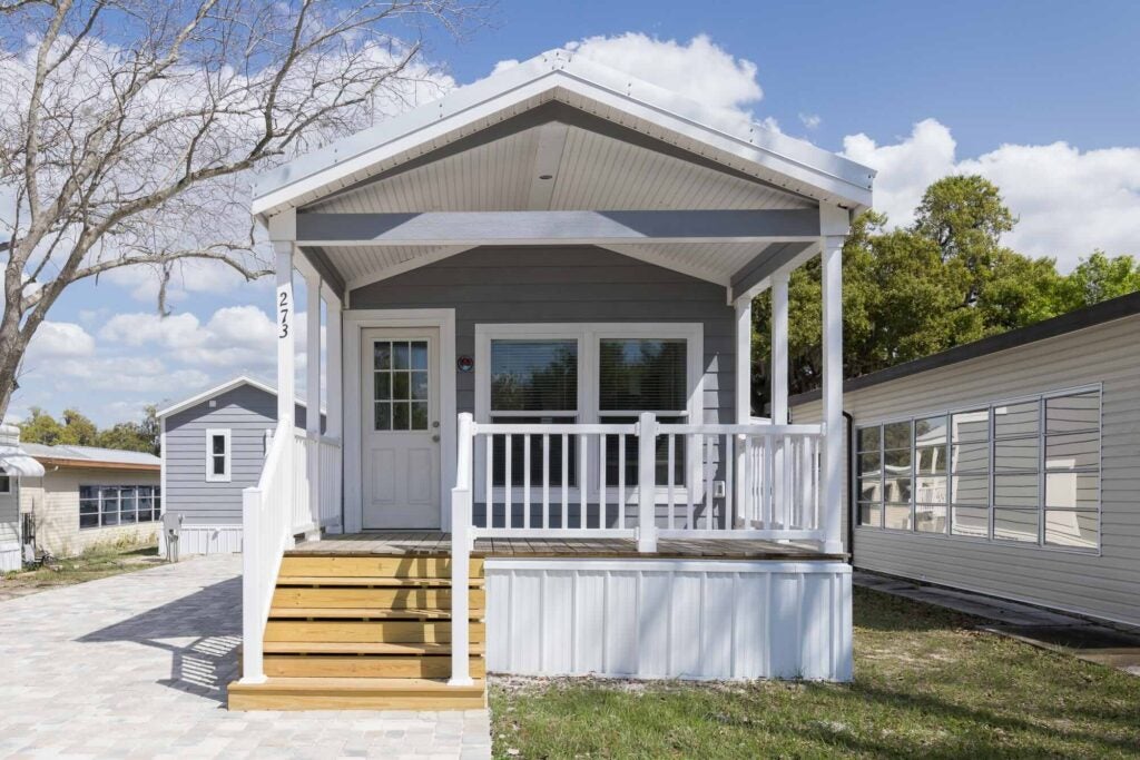
[(451, 485), (455, 482), (455, 309), (349, 309), (342, 312), (344, 345), (344, 532), (364, 525), (364, 491), (360, 466), (363, 332), (385, 327), (435, 327), (439, 329), (439, 524), (451, 530)]

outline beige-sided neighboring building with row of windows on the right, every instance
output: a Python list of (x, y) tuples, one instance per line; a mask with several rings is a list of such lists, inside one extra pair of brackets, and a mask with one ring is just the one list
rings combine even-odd
[(1138, 335), (1140, 293), (847, 381), (855, 566), (1140, 626)]

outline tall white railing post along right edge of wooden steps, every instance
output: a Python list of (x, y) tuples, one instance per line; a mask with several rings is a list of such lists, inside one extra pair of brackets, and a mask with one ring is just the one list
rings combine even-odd
[(471, 686), (470, 573), (471, 474), (474, 418), (459, 415), (455, 488), (451, 489), (451, 686)]

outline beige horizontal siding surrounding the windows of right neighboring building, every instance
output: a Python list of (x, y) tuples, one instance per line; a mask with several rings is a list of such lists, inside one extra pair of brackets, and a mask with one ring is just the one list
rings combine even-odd
[[(856, 566), (1140, 624), (1138, 334), (1140, 316), (1118, 319), (852, 391), (844, 400), (864, 424), (1102, 383), (1099, 555), (856, 528)], [(797, 422), (819, 419), (820, 404), (793, 414)]]

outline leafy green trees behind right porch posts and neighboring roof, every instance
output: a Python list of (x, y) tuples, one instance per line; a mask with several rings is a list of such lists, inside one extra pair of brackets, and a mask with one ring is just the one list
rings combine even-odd
[[(844, 373), (865, 375), (1140, 291), (1140, 264), (1097, 251), (1070, 275), (1053, 259), (1032, 259), (1001, 244), (1017, 219), (995, 185), (977, 175), (934, 182), (906, 228), (868, 212), (844, 246)], [(789, 284), (789, 385), (821, 382), (819, 260)], [(752, 304), (752, 406), (771, 398), (771, 293)]]

